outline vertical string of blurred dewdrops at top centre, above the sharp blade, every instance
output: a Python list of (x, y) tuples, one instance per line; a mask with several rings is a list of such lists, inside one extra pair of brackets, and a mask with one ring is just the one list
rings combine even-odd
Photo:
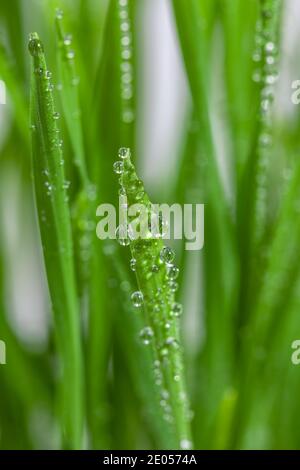
[(132, 33), (129, 18), (128, 0), (119, 0), (119, 19), (121, 36), (121, 102), (122, 120), (126, 124), (134, 121), (133, 99), (133, 67), (132, 67)]

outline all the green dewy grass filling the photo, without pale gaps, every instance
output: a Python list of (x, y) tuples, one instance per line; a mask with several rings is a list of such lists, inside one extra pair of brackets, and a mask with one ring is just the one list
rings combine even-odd
[[(0, 447), (299, 448), (300, 121), (277, 101), (283, 2), (169, 2), (191, 101), (163, 190), (136, 172), (142, 2), (57, 3), (0, 6)], [(204, 203), (203, 250), (99, 240), (97, 206), (120, 190)], [(44, 289), (21, 289), (19, 246)], [(44, 299), (42, 339), (16, 321), (16, 292), (23, 318)]]

